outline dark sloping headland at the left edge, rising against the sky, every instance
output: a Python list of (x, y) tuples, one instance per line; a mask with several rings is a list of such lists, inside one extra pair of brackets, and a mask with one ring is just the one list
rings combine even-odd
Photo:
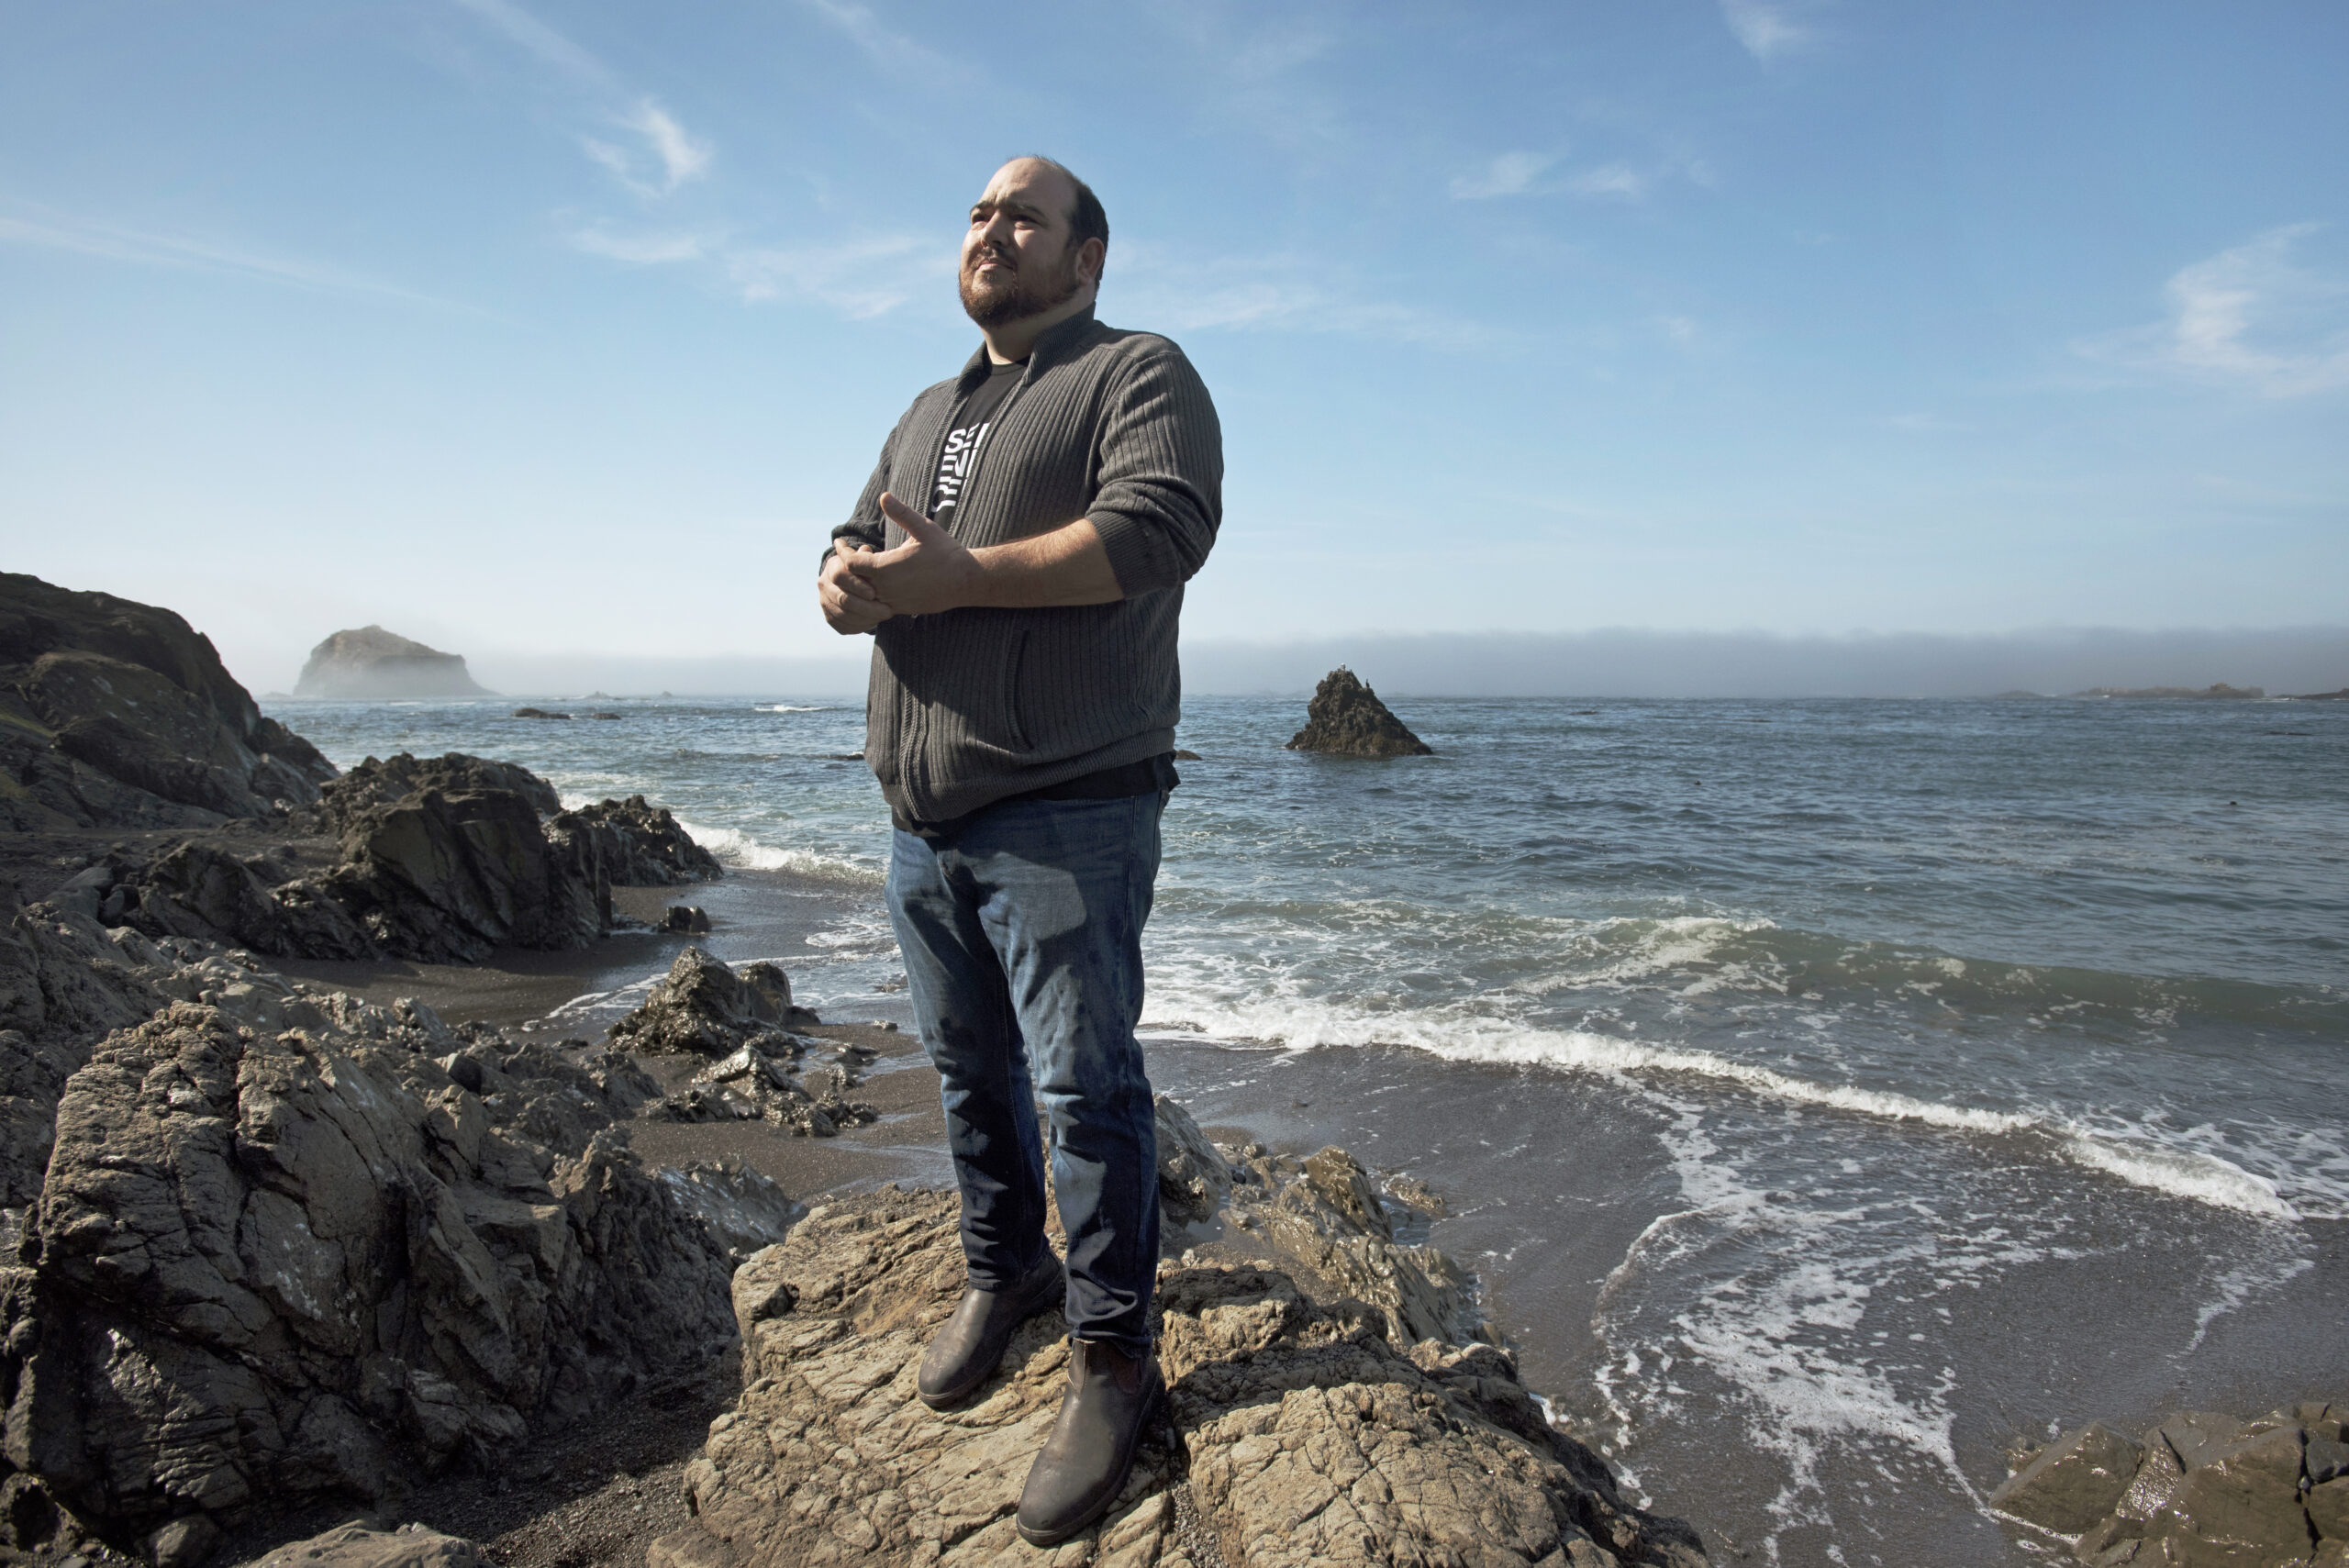
[(171, 610), (0, 573), (0, 831), (272, 817), (331, 777)]

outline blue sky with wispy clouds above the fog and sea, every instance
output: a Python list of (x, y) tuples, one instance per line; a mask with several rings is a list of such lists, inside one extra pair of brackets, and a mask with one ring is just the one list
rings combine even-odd
[(1191, 638), (2349, 620), (2349, 7), (0, 2), (5, 566), (839, 655), (1010, 153), (1200, 364)]

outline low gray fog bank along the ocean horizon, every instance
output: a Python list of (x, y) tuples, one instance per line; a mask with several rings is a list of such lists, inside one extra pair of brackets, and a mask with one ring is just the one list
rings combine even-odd
[[(1766, 631), (1487, 631), (1334, 636), (1299, 643), (1184, 641), (1196, 695), (1308, 692), (1337, 664), (1395, 697), (1992, 697), (2093, 685), (2217, 681), (2276, 692), (2349, 685), (2349, 627), (2044, 629), (1776, 636)], [(547, 692), (864, 692), (862, 646), (836, 660), (498, 655), (484, 685)]]

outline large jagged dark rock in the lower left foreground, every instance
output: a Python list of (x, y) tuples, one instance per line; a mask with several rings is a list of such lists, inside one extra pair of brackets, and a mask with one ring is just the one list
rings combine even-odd
[(646, 1171), (632, 1061), (207, 962), (66, 1084), (0, 1279), (7, 1465), (89, 1528), (373, 1500), (731, 1340), (792, 1207)]

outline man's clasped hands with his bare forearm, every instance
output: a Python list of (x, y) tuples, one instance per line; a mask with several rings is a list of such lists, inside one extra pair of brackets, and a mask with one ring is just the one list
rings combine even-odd
[(904, 530), (904, 545), (871, 549), (834, 540), (815, 577), (824, 622), (841, 636), (871, 631), (893, 615), (1111, 603), (1125, 596), (1090, 519), (970, 549), (895, 495), (881, 495), (881, 512)]

